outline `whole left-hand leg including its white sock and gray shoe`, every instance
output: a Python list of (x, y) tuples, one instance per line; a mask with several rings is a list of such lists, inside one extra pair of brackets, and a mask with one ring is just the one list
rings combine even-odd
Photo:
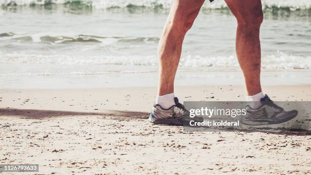
[(203, 3), (204, 0), (173, 0), (159, 43), (159, 90), (148, 118), (153, 124), (182, 125), (190, 120), (189, 111), (174, 96), (174, 79), (183, 38)]

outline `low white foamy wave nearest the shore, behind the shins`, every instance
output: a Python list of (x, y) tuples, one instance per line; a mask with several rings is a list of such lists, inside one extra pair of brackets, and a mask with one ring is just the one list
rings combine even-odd
[[(155, 56), (82, 56), (82, 55), (40, 55), (20, 53), (0, 53), (0, 64), (59, 64), (59, 65), (131, 65), (157, 66)], [(182, 56), (180, 67), (223, 67), (238, 68), (235, 55), (227, 56)], [(262, 68), (266, 70), (310, 69), (311, 56), (302, 57), (277, 52), (262, 58)]]

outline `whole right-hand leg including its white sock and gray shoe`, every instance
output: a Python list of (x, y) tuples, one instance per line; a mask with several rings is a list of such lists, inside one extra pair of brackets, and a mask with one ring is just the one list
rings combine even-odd
[[(261, 50), (259, 29), (263, 20), (260, 0), (225, 0), (237, 19), (236, 54), (243, 71), (247, 97), (247, 113), (242, 119), (246, 125), (270, 125), (287, 122), (297, 115), (297, 110), (286, 111), (272, 104), (261, 92)], [(268, 102), (268, 103), (265, 103)], [(267, 112), (268, 111), (268, 112)]]

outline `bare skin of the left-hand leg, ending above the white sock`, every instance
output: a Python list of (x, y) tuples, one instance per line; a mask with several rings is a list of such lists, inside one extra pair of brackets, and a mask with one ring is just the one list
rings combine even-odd
[(183, 38), (191, 28), (203, 3), (204, 0), (173, 0), (158, 48), (160, 59), (159, 96), (174, 92), (174, 79)]

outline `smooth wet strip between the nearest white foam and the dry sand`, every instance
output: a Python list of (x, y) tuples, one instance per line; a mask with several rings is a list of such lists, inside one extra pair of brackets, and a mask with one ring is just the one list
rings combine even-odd
[[(262, 85), (309, 85), (309, 70), (274, 70), (261, 72)], [(156, 87), (158, 72), (126, 72), (108, 74), (62, 74), (37, 76), (3, 76), (1, 89), (100, 89)], [(244, 85), (241, 71), (202, 68), (181, 69), (175, 78), (176, 86)]]

